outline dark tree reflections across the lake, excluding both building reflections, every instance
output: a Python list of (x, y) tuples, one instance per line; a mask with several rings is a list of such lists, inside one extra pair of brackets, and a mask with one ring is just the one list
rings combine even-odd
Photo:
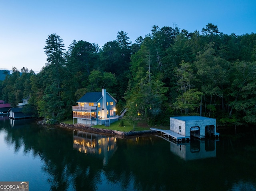
[(98, 154), (80, 153), (73, 148), (72, 131), (47, 130), (36, 124), (9, 127), (5, 131), (5, 141), (14, 145), (16, 152), (24, 145), (25, 153), (33, 152), (44, 161), (42, 169), (49, 175), (51, 190), (72, 187), (95, 191), (104, 181), (102, 172), (110, 183), (120, 183), (123, 190), (131, 185), (134, 190), (147, 191), (228, 190), (235, 183), (239, 182), (241, 187), (242, 183), (256, 179), (255, 139), (226, 138), (216, 144), (217, 158), (193, 161), (175, 156), (170, 152), (170, 143), (161, 138), (117, 139), (117, 149), (104, 165), (104, 158)]

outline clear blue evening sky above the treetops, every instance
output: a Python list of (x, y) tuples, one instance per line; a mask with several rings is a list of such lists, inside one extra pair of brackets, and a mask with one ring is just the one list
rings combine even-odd
[(0, 69), (40, 72), (50, 34), (102, 47), (124, 31), (132, 43), (152, 26), (188, 32), (208, 23), (224, 34), (256, 33), (256, 0), (0, 0)]

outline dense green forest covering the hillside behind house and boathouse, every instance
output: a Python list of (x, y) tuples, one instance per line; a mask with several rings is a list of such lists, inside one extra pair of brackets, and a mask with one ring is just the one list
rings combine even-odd
[(134, 43), (124, 31), (99, 47), (74, 40), (68, 50), (51, 34), (47, 63), (35, 74), (16, 67), (0, 81), (0, 99), (24, 112), (62, 121), (86, 92), (102, 88), (117, 100), (126, 119), (169, 124), (170, 116), (217, 118), (219, 125), (256, 124), (256, 34), (230, 35), (207, 24), (201, 33), (152, 26)]

